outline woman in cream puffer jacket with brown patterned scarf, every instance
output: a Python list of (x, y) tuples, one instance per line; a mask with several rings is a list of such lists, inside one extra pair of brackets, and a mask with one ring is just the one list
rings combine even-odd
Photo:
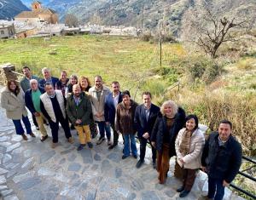
[(179, 197), (186, 197), (195, 182), (196, 173), (201, 168), (201, 153), (205, 144), (204, 134), (198, 129), (198, 118), (189, 115), (185, 121), (186, 128), (178, 132), (175, 142), (177, 163), (183, 169), (183, 186), (177, 189), (181, 192)]

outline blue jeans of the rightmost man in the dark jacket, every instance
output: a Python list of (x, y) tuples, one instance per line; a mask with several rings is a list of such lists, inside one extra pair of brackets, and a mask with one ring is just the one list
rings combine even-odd
[(208, 177), (208, 197), (209, 198), (214, 197), (214, 200), (222, 200), (224, 197), (224, 189), (225, 187), (223, 186), (223, 180), (217, 180), (217, 179), (212, 179)]

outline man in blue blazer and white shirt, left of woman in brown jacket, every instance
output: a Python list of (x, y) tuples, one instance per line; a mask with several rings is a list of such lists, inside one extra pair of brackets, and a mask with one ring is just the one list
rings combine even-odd
[(117, 81), (114, 81), (112, 84), (112, 93), (108, 94), (105, 99), (104, 106), (104, 117), (107, 125), (107, 131), (110, 132), (110, 126), (113, 129), (113, 144), (108, 147), (109, 150), (113, 149), (114, 146), (117, 146), (119, 142), (119, 134), (114, 128), (114, 117), (116, 106), (122, 102), (122, 94), (120, 92), (120, 85)]

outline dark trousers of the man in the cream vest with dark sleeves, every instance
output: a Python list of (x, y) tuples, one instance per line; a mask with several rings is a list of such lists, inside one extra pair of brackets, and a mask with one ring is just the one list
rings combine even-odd
[(65, 132), (66, 138), (72, 137), (69, 129), (69, 123), (68, 119), (64, 119), (63, 117), (56, 118), (56, 122), (49, 121), (49, 127), (51, 129), (52, 134), (52, 142), (57, 143), (58, 142), (58, 131), (59, 131), (59, 123), (61, 123), (61, 127)]

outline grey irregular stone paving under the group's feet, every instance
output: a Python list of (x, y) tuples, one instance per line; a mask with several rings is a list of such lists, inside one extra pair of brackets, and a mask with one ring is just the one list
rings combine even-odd
[[(93, 149), (77, 151), (76, 132), (71, 145), (60, 129), (60, 144), (52, 149), (51, 138), (41, 142), (38, 131), (32, 129), (37, 138), (21, 140), (0, 108), (0, 192), (6, 200), (180, 199), (176, 189), (181, 182), (173, 177), (174, 160), (166, 184), (160, 185), (150, 153), (143, 167), (136, 169), (135, 158), (121, 159), (122, 142), (109, 151), (107, 143), (96, 146), (93, 140)], [(49, 127), (47, 130), (50, 133)], [(207, 193), (207, 176), (199, 173), (189, 196), (183, 199), (199, 199), (203, 193)], [(225, 199), (242, 198), (227, 190)]]

